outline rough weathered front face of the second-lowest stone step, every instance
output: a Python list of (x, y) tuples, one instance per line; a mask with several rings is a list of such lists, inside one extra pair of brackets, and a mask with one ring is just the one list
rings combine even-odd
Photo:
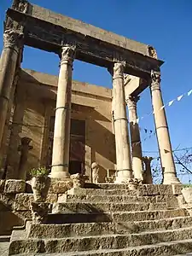
[[(111, 236), (82, 236), (73, 238), (47, 239), (47, 240), (21, 240), (20, 242), (11, 242), (12, 252), (32, 253), (32, 247), (36, 253), (44, 250), (46, 253), (67, 253), (76, 251), (89, 251), (101, 249), (120, 249), (127, 247), (136, 247), (151, 245), (159, 241), (177, 241), (190, 239), (192, 229), (166, 230), (160, 232), (144, 232), (131, 235), (111, 235)], [(27, 243), (28, 242), (28, 243)], [(41, 245), (39, 247), (39, 245)], [(20, 248), (19, 248), (20, 246)], [(155, 246), (155, 245), (154, 245)], [(44, 248), (43, 248), (44, 247)], [(134, 248), (130, 248), (131, 250)], [(141, 249), (141, 247), (140, 247)], [(145, 251), (146, 253), (146, 251)], [(13, 254), (13, 253), (12, 253)], [(134, 254), (135, 255), (135, 254)], [(144, 255), (144, 254), (141, 254)], [(148, 255), (148, 254), (145, 254)], [(149, 254), (150, 255), (150, 254)], [(157, 254), (158, 255), (158, 254)], [(162, 254), (161, 254), (162, 255)]]

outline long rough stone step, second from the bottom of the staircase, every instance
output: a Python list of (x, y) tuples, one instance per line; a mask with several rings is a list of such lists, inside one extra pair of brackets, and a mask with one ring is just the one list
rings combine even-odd
[[(108, 236), (86, 236), (86, 237), (73, 237), (73, 238), (61, 238), (61, 239), (30, 239), (30, 240), (17, 240), (11, 241), (9, 247), (9, 255), (19, 253), (69, 253), (69, 252), (83, 252), (86, 251), (105, 250), (101, 255), (172, 255), (173, 251), (166, 248), (169, 245), (174, 244), (178, 249), (174, 253), (187, 253), (192, 249), (192, 227), (178, 229), (178, 230), (166, 230), (166, 231), (153, 231), (143, 232), (140, 234), (131, 235), (108, 235)], [(189, 242), (183, 242), (181, 240), (189, 239)], [(175, 241), (175, 242), (174, 242)], [(183, 242), (181, 251), (179, 249), (179, 241)], [(155, 245), (155, 243), (163, 242), (164, 245)], [(190, 245), (189, 248), (187, 245)], [(143, 247), (148, 245), (147, 247)], [(149, 246), (152, 245), (152, 246)], [(130, 248), (132, 247), (132, 248)], [(156, 247), (156, 252), (155, 248)], [(165, 253), (162, 251), (165, 250)], [(107, 254), (107, 250), (112, 249), (124, 249), (125, 254)], [(184, 249), (184, 250), (183, 250)], [(189, 250), (189, 251), (188, 251)], [(155, 254), (154, 254), (155, 252)], [(168, 253), (167, 253), (168, 252)], [(90, 252), (89, 252), (90, 253)], [(89, 253), (87, 255), (89, 255)], [(153, 254), (151, 254), (153, 253)], [(160, 254), (161, 253), (161, 254)], [(167, 254), (166, 254), (167, 253)], [(171, 254), (172, 253), (172, 254)], [(26, 254), (27, 255), (27, 254)], [(67, 255), (67, 254), (65, 254)], [(68, 254), (70, 255), (70, 254)], [(72, 255), (80, 255), (79, 253), (73, 253)], [(82, 254), (81, 254), (82, 255)], [(90, 254), (91, 255), (91, 254)], [(92, 254), (96, 255), (96, 254)], [(100, 255), (100, 254), (98, 254)]]

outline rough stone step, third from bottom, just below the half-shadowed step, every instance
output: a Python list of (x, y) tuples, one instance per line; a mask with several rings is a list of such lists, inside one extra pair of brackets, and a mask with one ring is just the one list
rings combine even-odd
[(150, 230), (173, 230), (192, 226), (192, 217), (123, 223), (29, 224), (28, 238), (63, 238), (131, 234)]

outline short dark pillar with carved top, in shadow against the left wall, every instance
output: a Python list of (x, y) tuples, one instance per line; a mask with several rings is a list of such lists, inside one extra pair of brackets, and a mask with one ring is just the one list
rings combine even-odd
[(20, 151), (20, 165), (19, 165), (19, 173), (18, 178), (26, 180), (26, 172), (27, 172), (27, 160), (29, 150), (32, 149), (32, 146), (29, 145), (32, 142), (32, 139), (29, 137), (22, 137), (21, 144), (18, 148)]

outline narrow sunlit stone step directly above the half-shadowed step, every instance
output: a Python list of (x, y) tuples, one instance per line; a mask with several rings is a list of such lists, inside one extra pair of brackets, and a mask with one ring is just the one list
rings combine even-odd
[(134, 195), (61, 195), (58, 202), (85, 202), (85, 203), (166, 203), (167, 207), (177, 207), (176, 196), (156, 195), (156, 196), (134, 196)]

